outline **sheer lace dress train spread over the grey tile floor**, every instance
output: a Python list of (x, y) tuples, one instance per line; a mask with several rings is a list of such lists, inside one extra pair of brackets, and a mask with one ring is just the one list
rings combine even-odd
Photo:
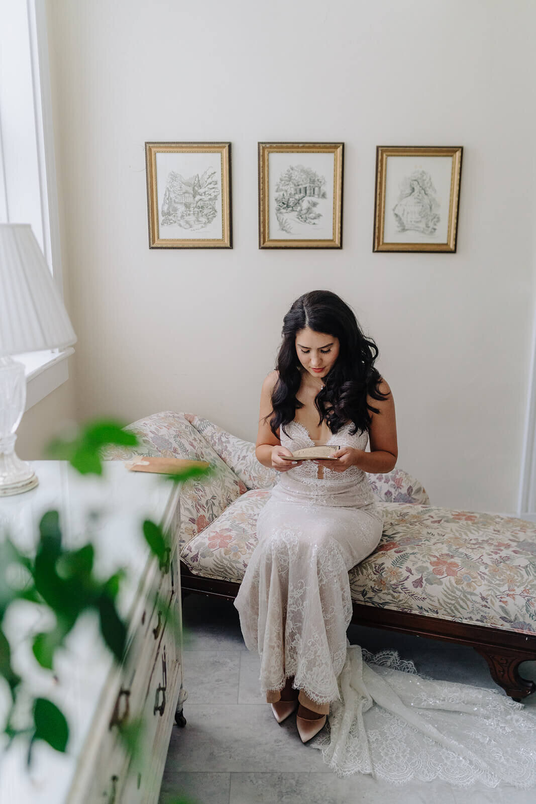
[(536, 714), (498, 690), (436, 681), (395, 650), (348, 642), (339, 691), (326, 733), (310, 744), (338, 776), (536, 785)]

